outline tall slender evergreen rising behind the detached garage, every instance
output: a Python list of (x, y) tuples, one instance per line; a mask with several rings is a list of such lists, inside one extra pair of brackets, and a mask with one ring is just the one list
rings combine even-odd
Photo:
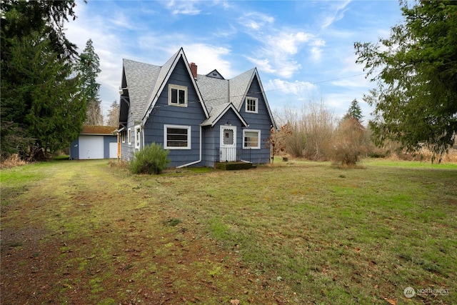
[(88, 125), (103, 125), (101, 101), (99, 100), (100, 84), (96, 82), (96, 78), (101, 72), (99, 67), (99, 56), (94, 51), (92, 39), (89, 39), (86, 42), (86, 49), (79, 56), (78, 66), (82, 90), (88, 102), (85, 122)]

